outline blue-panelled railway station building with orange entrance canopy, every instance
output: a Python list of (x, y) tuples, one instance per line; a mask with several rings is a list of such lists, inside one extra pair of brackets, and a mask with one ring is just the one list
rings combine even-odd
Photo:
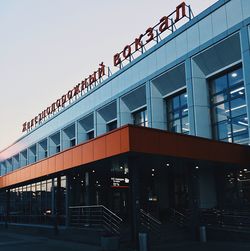
[(3, 222), (248, 229), (250, 1), (152, 43), (0, 152)]

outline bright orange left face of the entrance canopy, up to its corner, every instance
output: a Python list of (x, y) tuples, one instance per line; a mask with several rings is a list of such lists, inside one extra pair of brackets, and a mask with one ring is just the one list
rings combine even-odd
[[(0, 188), (54, 174), (129, 150), (128, 127), (97, 137), (74, 148), (0, 177)], [(122, 142), (122, 144), (121, 144)]]

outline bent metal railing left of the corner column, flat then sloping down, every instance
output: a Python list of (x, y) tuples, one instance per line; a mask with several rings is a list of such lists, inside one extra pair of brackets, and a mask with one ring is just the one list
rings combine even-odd
[(99, 227), (119, 235), (122, 219), (103, 205), (69, 207), (69, 225), (76, 228)]

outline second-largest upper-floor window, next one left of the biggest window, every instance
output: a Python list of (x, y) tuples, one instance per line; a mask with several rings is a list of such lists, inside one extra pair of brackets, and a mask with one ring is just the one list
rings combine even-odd
[(187, 93), (167, 98), (167, 128), (170, 132), (189, 134)]

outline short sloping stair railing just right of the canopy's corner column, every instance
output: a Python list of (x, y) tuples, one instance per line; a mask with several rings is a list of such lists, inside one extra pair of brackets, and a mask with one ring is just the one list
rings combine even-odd
[(150, 232), (159, 233), (161, 231), (162, 223), (151, 214), (140, 209), (140, 225)]

